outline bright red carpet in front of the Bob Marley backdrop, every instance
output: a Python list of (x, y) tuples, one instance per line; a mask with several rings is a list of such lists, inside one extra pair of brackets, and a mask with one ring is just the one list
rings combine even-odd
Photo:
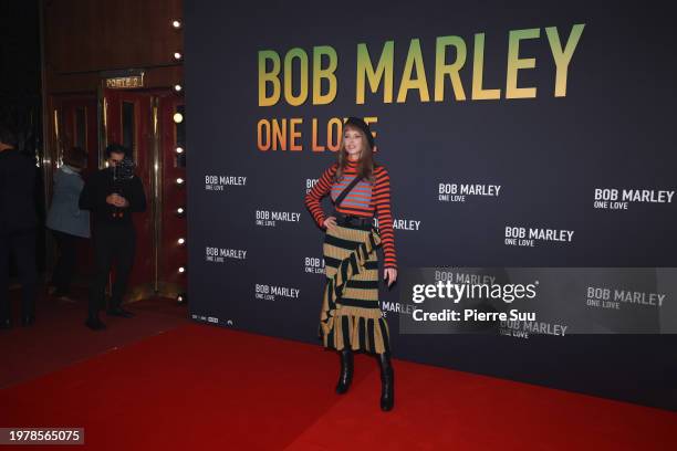
[(382, 413), (375, 360), (355, 365), (341, 397), (333, 353), (190, 324), (0, 390), (0, 426), (84, 427), (96, 450), (677, 449), (674, 412), (398, 360)]

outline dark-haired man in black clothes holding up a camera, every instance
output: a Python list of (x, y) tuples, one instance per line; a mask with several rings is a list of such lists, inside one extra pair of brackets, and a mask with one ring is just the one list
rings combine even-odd
[(93, 174), (80, 196), (80, 208), (91, 210), (94, 218), (95, 275), (90, 292), (90, 313), (85, 325), (93, 331), (105, 328), (98, 311), (105, 305), (105, 290), (113, 261), (116, 261), (115, 282), (107, 313), (132, 317), (122, 307), (136, 248), (136, 232), (132, 213), (146, 210), (146, 196), (140, 179), (121, 171), (129, 158), (129, 150), (118, 144), (106, 147), (108, 167)]

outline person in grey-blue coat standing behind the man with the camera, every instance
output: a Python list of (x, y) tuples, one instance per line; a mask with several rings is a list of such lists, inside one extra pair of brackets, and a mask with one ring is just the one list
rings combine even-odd
[(52, 272), (52, 295), (59, 300), (71, 301), (71, 280), (77, 263), (77, 243), (90, 238), (90, 212), (81, 210), (80, 193), (84, 180), (80, 172), (87, 162), (84, 149), (73, 147), (63, 156), (63, 165), (54, 175), (52, 204), (48, 213), (46, 227), (52, 231), (59, 249), (59, 258)]

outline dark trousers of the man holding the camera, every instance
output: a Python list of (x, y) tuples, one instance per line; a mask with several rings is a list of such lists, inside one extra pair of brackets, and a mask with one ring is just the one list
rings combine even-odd
[(90, 317), (96, 317), (105, 306), (108, 274), (115, 265), (115, 281), (108, 310), (121, 306), (132, 273), (136, 232), (132, 222), (102, 223), (94, 229), (95, 274), (90, 293)]

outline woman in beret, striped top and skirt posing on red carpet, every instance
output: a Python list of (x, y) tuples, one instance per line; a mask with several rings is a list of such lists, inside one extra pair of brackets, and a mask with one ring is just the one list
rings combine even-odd
[[(378, 303), (378, 255), (383, 247), (384, 279), (397, 279), (390, 213), (390, 178), (373, 159), (374, 137), (368, 125), (350, 117), (343, 126), (337, 161), (305, 196), (313, 219), (326, 231), (326, 285), (320, 318), (324, 346), (341, 355), (336, 392), (345, 394), (353, 377), (353, 350), (376, 354), (381, 367), (381, 408), (395, 402), (388, 325)], [(334, 212), (329, 218), (320, 204), (330, 195)], [(376, 216), (378, 228), (373, 224)]]

